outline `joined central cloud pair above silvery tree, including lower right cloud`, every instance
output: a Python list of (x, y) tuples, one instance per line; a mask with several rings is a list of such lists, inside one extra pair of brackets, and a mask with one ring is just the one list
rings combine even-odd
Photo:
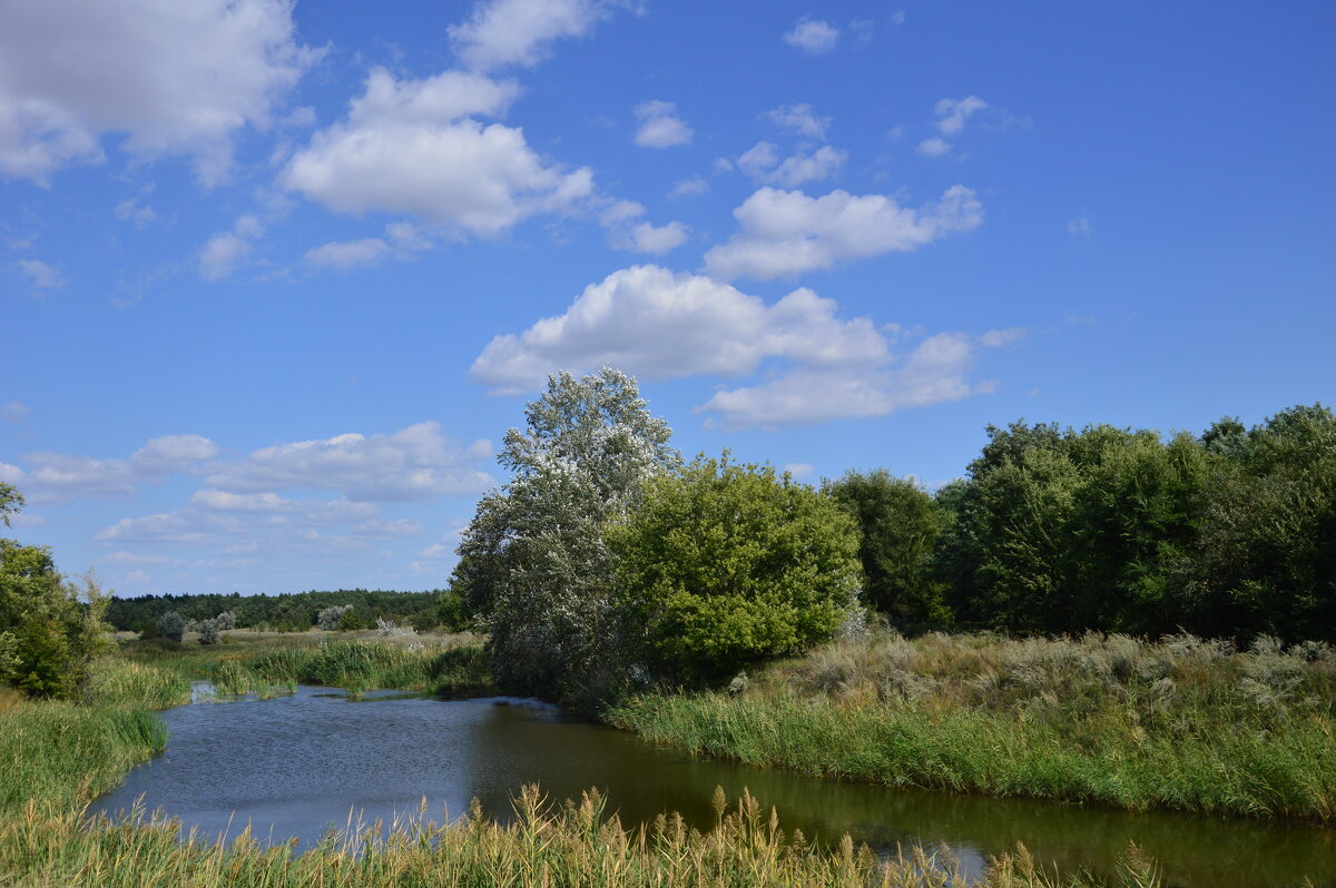
[(472, 374), (493, 394), (521, 394), (554, 370), (605, 363), (644, 379), (739, 379), (764, 370), (762, 382), (716, 391), (697, 410), (725, 429), (774, 429), (987, 391), (967, 378), (977, 353), (1021, 332), (942, 332), (898, 354), (896, 327), (843, 319), (835, 300), (811, 290), (767, 304), (711, 278), (636, 266), (591, 284), (561, 315), (496, 337)]

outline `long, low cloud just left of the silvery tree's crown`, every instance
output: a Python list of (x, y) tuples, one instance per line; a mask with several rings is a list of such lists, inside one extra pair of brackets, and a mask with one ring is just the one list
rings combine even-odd
[(440, 423), (421, 422), (389, 435), (353, 433), (263, 447), (215, 466), (206, 482), (227, 493), (310, 487), (338, 490), (354, 502), (422, 501), (486, 490), (492, 477), (478, 466), (490, 455), (485, 439), (461, 447)]

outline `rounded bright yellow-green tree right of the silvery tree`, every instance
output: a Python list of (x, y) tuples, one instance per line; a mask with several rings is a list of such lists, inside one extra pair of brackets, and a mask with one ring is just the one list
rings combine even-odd
[(659, 674), (717, 681), (828, 638), (858, 596), (858, 535), (771, 466), (697, 457), (608, 531), (617, 609)]

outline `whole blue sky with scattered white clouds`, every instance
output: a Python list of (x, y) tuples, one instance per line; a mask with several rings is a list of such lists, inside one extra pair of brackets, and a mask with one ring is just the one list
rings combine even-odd
[(444, 586), (556, 369), (934, 486), (1333, 398), (1329, 3), (0, 4), (9, 531)]

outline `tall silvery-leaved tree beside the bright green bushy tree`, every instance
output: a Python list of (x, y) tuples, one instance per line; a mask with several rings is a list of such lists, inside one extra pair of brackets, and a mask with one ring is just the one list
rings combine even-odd
[(619, 628), (603, 527), (644, 482), (681, 462), (636, 381), (604, 367), (548, 377), (498, 462), (509, 483), (478, 503), (453, 589), (486, 624), (497, 678), (574, 701), (612, 680)]

